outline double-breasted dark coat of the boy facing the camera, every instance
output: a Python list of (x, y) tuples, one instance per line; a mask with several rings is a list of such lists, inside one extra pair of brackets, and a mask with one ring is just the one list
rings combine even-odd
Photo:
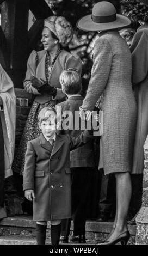
[(84, 145), (91, 137), (85, 130), (72, 138), (57, 135), (53, 147), (42, 134), (28, 142), (23, 190), (34, 190), (33, 220), (71, 217), (70, 150)]

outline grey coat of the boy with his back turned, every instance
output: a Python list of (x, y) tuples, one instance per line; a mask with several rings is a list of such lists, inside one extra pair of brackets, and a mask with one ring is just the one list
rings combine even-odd
[[(61, 130), (61, 134), (69, 134), (71, 137), (81, 135), (84, 130), (81, 130), (80, 118), (79, 118), (79, 107), (83, 104), (83, 97), (81, 95), (70, 96), (64, 102), (59, 103), (55, 106), (61, 107), (61, 113), (64, 111), (71, 111), (72, 118), (69, 121), (69, 126), (73, 129)], [(75, 115), (77, 111), (78, 115)], [(77, 119), (76, 119), (77, 118)], [(78, 125), (79, 129), (75, 129), (75, 124)], [(64, 128), (64, 127), (63, 127)], [(70, 152), (70, 167), (94, 167), (94, 152), (93, 152), (93, 140), (91, 139), (83, 147), (77, 148)]]

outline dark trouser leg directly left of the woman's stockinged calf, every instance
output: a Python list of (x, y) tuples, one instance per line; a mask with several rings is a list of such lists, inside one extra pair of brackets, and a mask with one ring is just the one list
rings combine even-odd
[(115, 211), (115, 191), (116, 183), (114, 175), (104, 175), (103, 169), (101, 171), (101, 188), (100, 188), (100, 200), (99, 210), (101, 215), (110, 217), (110, 214)]

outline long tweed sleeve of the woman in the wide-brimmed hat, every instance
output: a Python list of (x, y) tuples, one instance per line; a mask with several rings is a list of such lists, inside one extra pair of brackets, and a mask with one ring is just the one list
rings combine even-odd
[(94, 64), (91, 70), (87, 95), (82, 108), (92, 111), (106, 88), (112, 66), (112, 48), (107, 39), (99, 38), (94, 45)]

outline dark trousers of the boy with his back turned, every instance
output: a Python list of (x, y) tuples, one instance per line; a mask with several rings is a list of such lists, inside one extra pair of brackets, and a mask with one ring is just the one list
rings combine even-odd
[[(92, 169), (76, 167), (71, 172), (73, 235), (84, 235)], [(70, 225), (71, 219), (61, 221), (61, 235), (69, 235)]]

